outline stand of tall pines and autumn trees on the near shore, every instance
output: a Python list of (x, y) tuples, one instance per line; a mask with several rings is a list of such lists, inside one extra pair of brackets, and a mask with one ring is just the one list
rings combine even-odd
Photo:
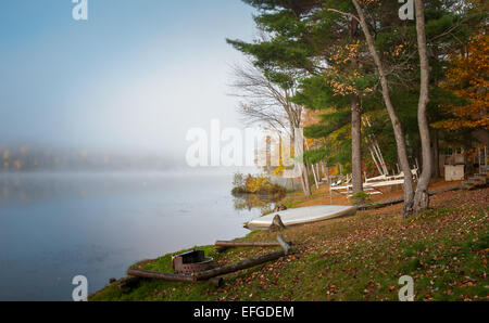
[[(443, 147), (469, 159), (487, 145), (486, 1), (243, 2), (256, 10), (259, 36), (227, 39), (249, 59), (234, 68), (239, 111), (251, 124), (305, 126), (304, 169), (341, 165), (359, 193), (365, 172), (418, 168), (416, 185), (404, 176), (410, 217), (429, 205)], [(316, 120), (304, 125), (305, 113)], [(309, 175), (301, 180), (311, 195)]]

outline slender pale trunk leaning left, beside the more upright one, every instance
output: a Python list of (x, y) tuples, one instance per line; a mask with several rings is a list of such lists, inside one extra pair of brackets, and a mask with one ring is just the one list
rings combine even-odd
[(413, 214), (414, 191), (413, 191), (413, 177), (411, 176), (411, 167), (408, 160), (408, 148), (405, 144), (404, 130), (402, 129), (401, 121), (399, 120), (396, 111), (393, 108), (392, 102), (390, 100), (389, 82), (387, 80), (387, 76), (384, 70), (384, 65), (380, 61), (377, 50), (375, 49), (374, 38), (372, 37), (371, 31), (368, 30), (368, 25), (365, 21), (365, 15), (363, 14), (362, 8), (360, 7), (359, 2), (356, 0), (352, 0), (352, 2), (359, 14), (360, 24), (362, 25), (363, 34), (365, 35), (368, 44), (368, 50), (372, 56), (374, 57), (375, 65), (377, 66), (377, 70), (380, 76), (380, 85), (383, 87), (384, 102), (386, 104), (387, 112), (389, 114), (394, 131), (399, 164), (401, 165), (401, 170), (404, 172), (403, 216), (404, 218), (408, 218)]

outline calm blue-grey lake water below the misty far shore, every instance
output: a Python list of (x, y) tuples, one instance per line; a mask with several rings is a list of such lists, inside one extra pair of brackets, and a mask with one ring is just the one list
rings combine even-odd
[(233, 175), (0, 175), (0, 300), (71, 300), (143, 259), (247, 234)]

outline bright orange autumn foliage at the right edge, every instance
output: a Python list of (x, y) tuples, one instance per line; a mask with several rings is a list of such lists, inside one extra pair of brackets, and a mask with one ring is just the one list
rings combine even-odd
[(451, 67), (441, 87), (452, 91), (468, 104), (452, 107), (451, 118), (434, 124), (447, 130), (481, 129), (489, 125), (487, 106), (489, 75), (489, 36), (478, 34), (469, 41), (466, 55), (450, 57)]

